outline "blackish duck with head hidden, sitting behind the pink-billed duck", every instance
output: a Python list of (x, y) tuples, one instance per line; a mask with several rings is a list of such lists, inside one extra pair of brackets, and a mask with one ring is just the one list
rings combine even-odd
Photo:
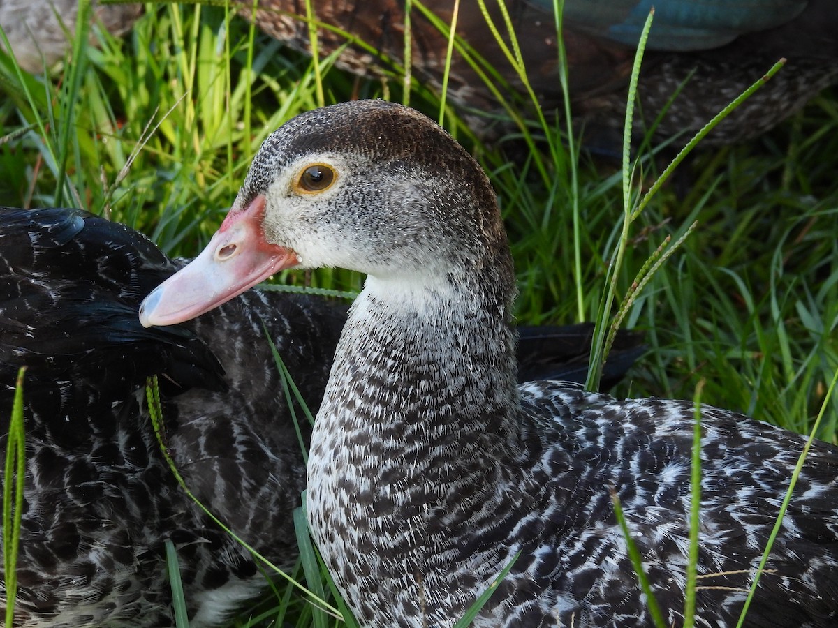
[[(266, 586), (250, 554), (174, 481), (147, 415), (150, 375), (190, 489), (275, 564), (297, 558), (292, 510), (305, 466), (262, 325), (314, 411), (346, 306), (253, 291), (194, 322), (143, 328), (142, 297), (183, 264), (79, 210), (0, 208), (0, 461), (18, 368), (28, 368), (16, 625), (173, 625), (167, 540), (193, 628), (223, 623)], [(583, 380), (591, 332), (528, 329), (522, 374)], [(642, 351), (636, 336), (619, 342), (611, 382)]]

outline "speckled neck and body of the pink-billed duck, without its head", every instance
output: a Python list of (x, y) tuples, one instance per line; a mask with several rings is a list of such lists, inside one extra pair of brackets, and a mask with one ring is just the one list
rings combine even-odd
[[(681, 625), (693, 404), (510, 387), (514, 365), (489, 366), (511, 355), (507, 324), (486, 316), (502, 308), (468, 296), (494, 281), (413, 302), (370, 278), (350, 311), (308, 471), (330, 573), (360, 625), (453, 626), (509, 564), (474, 626), (654, 625), (613, 492), (666, 625)], [(443, 302), (462, 319), (441, 320)], [(696, 625), (735, 625), (805, 439), (701, 414)], [(838, 449), (815, 446), (746, 625), (835, 625), (836, 470)]]

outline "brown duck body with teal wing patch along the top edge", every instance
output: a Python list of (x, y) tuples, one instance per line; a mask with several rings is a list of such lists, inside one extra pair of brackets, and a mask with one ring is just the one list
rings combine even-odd
[[(634, 51), (652, 4), (651, 0), (565, 2), (562, 33), (568, 88), (577, 121), (586, 126), (588, 146), (605, 149), (621, 145)], [(452, 23), (453, 3), (430, 0), (424, 5), (442, 23)], [(539, 106), (547, 112), (563, 111), (553, 3), (513, 0), (505, 5)], [(328, 25), (318, 31), (323, 54), (338, 51), (349, 39), (349, 46), (338, 57), (344, 69), (366, 76), (399, 75), (405, 49), (404, 3), (320, 0), (313, 6), (317, 19)], [(499, 3), (489, 2), (486, 7), (499, 32), (505, 33)], [(838, 9), (831, 0), (659, 0), (654, 8), (638, 90), (639, 133), (664, 112), (656, 126), (659, 140), (699, 131), (781, 58), (788, 59), (783, 71), (717, 126), (702, 146), (758, 136), (838, 82)], [(255, 15), (251, 5), (242, 8), (241, 14), (272, 37), (310, 52), (308, 24), (303, 22), (304, 12), (297, 3), (259, 0)], [(497, 44), (478, 3), (461, 3), (457, 24), (458, 35), (498, 73), (499, 80), (525, 94), (525, 86)], [(413, 74), (423, 85), (441, 90), (447, 34), (414, 9), (411, 40)], [(504, 41), (511, 44), (508, 35)], [(508, 94), (503, 85), (496, 86)], [(447, 95), (467, 112), (501, 110), (484, 80), (457, 51), (451, 61)], [(502, 131), (493, 129), (485, 116), (469, 119), (478, 133)]]

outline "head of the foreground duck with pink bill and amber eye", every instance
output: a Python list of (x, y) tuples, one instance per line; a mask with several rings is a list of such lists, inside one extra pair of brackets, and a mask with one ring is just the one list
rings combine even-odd
[(219, 231), (147, 296), (140, 321), (184, 322), (289, 268), (422, 284), (487, 265), (506, 270), (511, 291), (498, 205), (477, 162), (422, 114), (360, 100), (304, 113), (266, 139)]

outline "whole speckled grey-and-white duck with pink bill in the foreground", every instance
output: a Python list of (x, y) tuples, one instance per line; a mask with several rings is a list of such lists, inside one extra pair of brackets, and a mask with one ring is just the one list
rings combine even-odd
[[(511, 564), (476, 626), (653, 625), (619, 498), (667, 625), (685, 600), (696, 408), (515, 382), (514, 275), (494, 192), (438, 126), (357, 101), (270, 136), (221, 229), (147, 297), (144, 325), (223, 298), (241, 268), (368, 274), (314, 427), (308, 519), (361, 625), (453, 626)], [(252, 277), (247, 281), (258, 281)], [(199, 296), (201, 290), (194, 291)], [(734, 625), (804, 438), (701, 406), (696, 625)], [(747, 615), (838, 620), (838, 449), (815, 442)]]

